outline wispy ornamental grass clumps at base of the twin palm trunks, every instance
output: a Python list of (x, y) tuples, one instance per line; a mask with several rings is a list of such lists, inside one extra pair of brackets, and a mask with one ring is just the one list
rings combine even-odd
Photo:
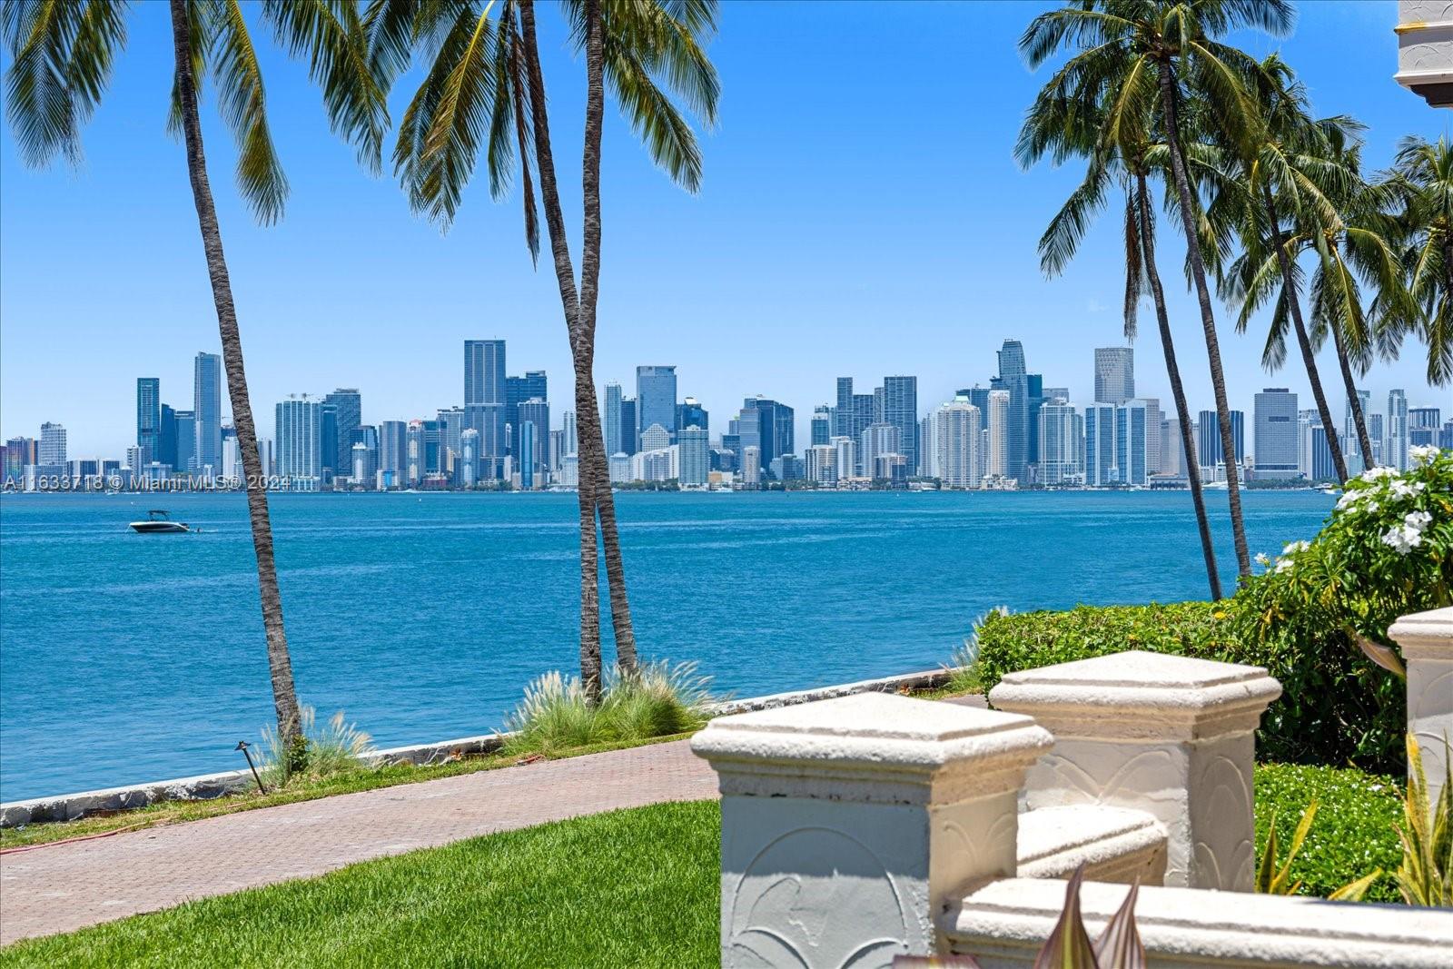
[(599, 706), (591, 706), (578, 677), (546, 673), (525, 687), (525, 697), (506, 718), (514, 731), (507, 754), (552, 754), (613, 741), (642, 741), (696, 729), (706, 722), (709, 677), (695, 662), (648, 662), (636, 673), (606, 678)]

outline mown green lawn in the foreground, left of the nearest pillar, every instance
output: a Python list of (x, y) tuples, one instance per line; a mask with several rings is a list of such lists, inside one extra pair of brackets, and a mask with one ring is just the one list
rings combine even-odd
[(708, 966), (721, 812), (663, 803), (0, 949), (0, 966)]

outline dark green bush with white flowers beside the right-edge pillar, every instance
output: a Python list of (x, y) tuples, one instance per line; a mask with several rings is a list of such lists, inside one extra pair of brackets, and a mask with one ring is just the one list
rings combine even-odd
[(1267, 716), (1298, 725), (1266, 725), (1290, 745), (1261, 755), (1395, 770), (1405, 697), (1388, 628), (1453, 604), (1453, 452), (1415, 447), (1405, 472), (1353, 478), (1315, 539), (1258, 561), (1266, 571), (1234, 600), (1235, 632), (1283, 658), (1286, 693)]

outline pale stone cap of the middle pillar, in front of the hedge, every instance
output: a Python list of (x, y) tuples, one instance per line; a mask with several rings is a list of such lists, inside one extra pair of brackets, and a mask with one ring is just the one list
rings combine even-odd
[(1001, 710), (1029, 713), (1056, 737), (1199, 739), (1255, 729), (1282, 684), (1261, 667), (1130, 649), (1005, 676)]

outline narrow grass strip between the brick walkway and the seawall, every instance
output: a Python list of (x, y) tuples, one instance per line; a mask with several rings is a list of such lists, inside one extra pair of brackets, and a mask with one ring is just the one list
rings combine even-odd
[[(681, 739), (687, 734), (674, 737), (658, 737), (649, 741), (600, 741), (578, 747), (558, 747), (543, 755), (549, 760), (565, 757), (580, 757), (581, 754), (599, 754), (607, 750), (622, 750), (638, 747), (642, 742), (655, 744)], [(201, 818), (215, 818), (238, 811), (253, 811), (254, 808), (272, 808), (276, 805), (295, 803), (298, 800), (315, 800), (334, 795), (352, 795), (359, 790), (373, 790), (376, 787), (392, 787), (395, 784), (417, 784), (440, 777), (456, 774), (472, 774), (479, 770), (497, 770), (511, 767), (519, 760), (519, 754), (485, 754), (479, 757), (465, 757), (443, 764), (391, 764), (386, 767), (357, 769), (352, 771), (331, 774), (320, 780), (294, 783), (280, 790), (269, 790), (266, 795), (256, 789), (212, 798), (209, 800), (166, 800), (145, 808), (119, 811), (108, 815), (93, 815), (80, 821), (44, 821), (28, 824), (19, 828), (0, 828), (0, 850), (19, 848), (28, 844), (45, 844), (64, 838), (81, 838), (94, 834), (106, 834), (125, 828), (154, 828), (166, 824), (180, 824), (183, 821), (199, 821)]]

